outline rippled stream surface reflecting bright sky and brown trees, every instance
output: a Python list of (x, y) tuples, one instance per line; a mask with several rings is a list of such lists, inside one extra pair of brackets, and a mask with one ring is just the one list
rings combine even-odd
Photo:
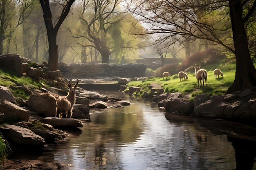
[[(124, 98), (122, 93), (116, 95)], [(133, 104), (107, 112), (91, 110), (91, 122), (81, 134), (50, 146), (40, 159), (69, 164), (65, 170), (255, 169), (255, 143), (250, 141), (255, 128), (165, 117), (165, 111), (150, 100), (130, 96), (126, 100)]]

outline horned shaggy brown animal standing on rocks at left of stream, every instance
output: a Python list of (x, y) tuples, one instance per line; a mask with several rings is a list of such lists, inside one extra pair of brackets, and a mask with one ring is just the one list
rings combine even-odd
[[(77, 79), (77, 78), (76, 78)], [(71, 85), (71, 79), (69, 84), (67, 84), (69, 91), (67, 96), (57, 96), (54, 95), (57, 101), (57, 117), (60, 117), (60, 114), (62, 113), (62, 117), (71, 118), (72, 117), (72, 110), (73, 106), (76, 102), (76, 88), (78, 86), (78, 79), (74, 87)]]

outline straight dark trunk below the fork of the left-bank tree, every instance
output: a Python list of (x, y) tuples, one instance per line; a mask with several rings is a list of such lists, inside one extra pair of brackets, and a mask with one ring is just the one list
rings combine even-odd
[(58, 70), (58, 46), (57, 46), (57, 33), (52, 31), (48, 32), (47, 37), (49, 43), (49, 67), (52, 71)]

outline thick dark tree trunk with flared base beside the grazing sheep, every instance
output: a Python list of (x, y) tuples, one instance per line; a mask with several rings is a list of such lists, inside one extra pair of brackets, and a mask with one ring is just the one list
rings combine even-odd
[(248, 49), (241, 0), (229, 0), (229, 9), (236, 54), (236, 77), (227, 94), (256, 86), (256, 69)]

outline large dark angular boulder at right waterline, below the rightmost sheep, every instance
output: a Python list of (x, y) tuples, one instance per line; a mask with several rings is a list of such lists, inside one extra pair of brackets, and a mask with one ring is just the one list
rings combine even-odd
[(221, 117), (227, 107), (223, 101), (223, 96), (213, 95), (209, 100), (197, 106), (194, 114), (202, 117)]

